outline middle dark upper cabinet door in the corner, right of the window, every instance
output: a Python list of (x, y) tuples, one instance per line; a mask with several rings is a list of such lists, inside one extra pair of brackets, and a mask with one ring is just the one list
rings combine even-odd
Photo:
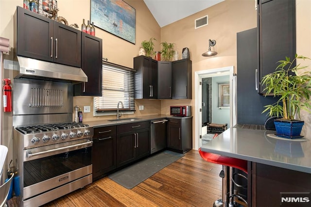
[(157, 61), (157, 98), (172, 99), (172, 62)]

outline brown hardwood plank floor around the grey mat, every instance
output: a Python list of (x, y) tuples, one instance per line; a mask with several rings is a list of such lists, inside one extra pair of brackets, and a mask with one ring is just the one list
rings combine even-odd
[(221, 169), (191, 150), (131, 190), (104, 177), (43, 207), (212, 207), (221, 198)]

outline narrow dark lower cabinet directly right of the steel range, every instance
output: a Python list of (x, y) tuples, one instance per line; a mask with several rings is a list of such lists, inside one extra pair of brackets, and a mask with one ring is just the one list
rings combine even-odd
[(93, 181), (117, 168), (116, 126), (94, 128), (92, 164)]

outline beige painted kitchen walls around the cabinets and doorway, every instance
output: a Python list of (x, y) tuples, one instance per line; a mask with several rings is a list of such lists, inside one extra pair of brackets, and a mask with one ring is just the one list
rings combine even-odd
[[(126, 67), (133, 67), (133, 57), (138, 55), (141, 41), (155, 37), (155, 50), (160, 50), (160, 42), (175, 43), (175, 48), (181, 58), (182, 49), (188, 47), (192, 60), (192, 77), (194, 72), (205, 69), (234, 66), (236, 71), (236, 33), (257, 26), (257, 17), (254, 0), (225, 0), (219, 4), (205, 9), (190, 17), (181, 19), (173, 24), (160, 28), (154, 17), (148, 10), (143, 0), (125, 0), (136, 9), (136, 44), (129, 43), (115, 35), (111, 35), (96, 28), (96, 36), (103, 39), (103, 56), (109, 62)], [(58, 16), (65, 17), (69, 24), (77, 23), (90, 17), (90, 0), (57, 0)], [(0, 0), (0, 36), (10, 39), (10, 55), (4, 55), (4, 59), (13, 59), (13, 15), (16, 6), (22, 6), (22, 0)], [(297, 5), (297, 53), (311, 57), (311, 1), (296, 0)], [(208, 25), (194, 29), (194, 20), (208, 15)], [(201, 54), (208, 49), (208, 39), (217, 41), (213, 50), (218, 54), (213, 57), (203, 57)], [(311, 65), (311, 64), (307, 64)], [(5, 77), (13, 78), (10, 70), (5, 70)], [(13, 88), (14, 89), (14, 88)], [(175, 104), (194, 105), (194, 79), (192, 80), (192, 100), (137, 100), (137, 112), (135, 116), (169, 114), (169, 106)], [(75, 97), (74, 105), (90, 105), (91, 113), (84, 114), (84, 121), (93, 121), (106, 118), (93, 117), (93, 98)], [(138, 105), (144, 105), (145, 110), (138, 111)], [(194, 114), (194, 107), (192, 114)], [(304, 114), (306, 122), (304, 131), (311, 128), (311, 117)], [(110, 119), (110, 118), (109, 118)], [(12, 146), (11, 114), (5, 114), (6, 125), (3, 131), (3, 144)], [(193, 124), (196, 124), (193, 122)], [(11, 148), (12, 149), (12, 148)]]

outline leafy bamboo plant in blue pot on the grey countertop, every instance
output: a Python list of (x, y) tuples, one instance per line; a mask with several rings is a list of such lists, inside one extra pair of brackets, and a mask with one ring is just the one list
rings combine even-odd
[(273, 94), (278, 98), (276, 103), (264, 106), (262, 111), (269, 112), (270, 117), (279, 118), (274, 121), (278, 137), (301, 138), (304, 121), (295, 120), (295, 116), (300, 119), (301, 109), (311, 113), (311, 71), (298, 74), (298, 70), (307, 67), (295, 65), (297, 59), (310, 58), (297, 54), (293, 60), (286, 57), (285, 60), (278, 61), (276, 71), (263, 76), (261, 80), (265, 96)]

